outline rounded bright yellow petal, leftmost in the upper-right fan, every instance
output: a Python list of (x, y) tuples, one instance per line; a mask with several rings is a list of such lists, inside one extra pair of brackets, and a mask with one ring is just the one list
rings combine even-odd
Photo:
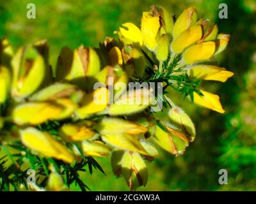
[(132, 24), (132, 23), (125, 23), (122, 24), (122, 27), (119, 28), (120, 33), (120, 40), (124, 40), (126, 43), (131, 44), (131, 43), (139, 43), (142, 45), (143, 39), (142, 39), (142, 34), (140, 29)]

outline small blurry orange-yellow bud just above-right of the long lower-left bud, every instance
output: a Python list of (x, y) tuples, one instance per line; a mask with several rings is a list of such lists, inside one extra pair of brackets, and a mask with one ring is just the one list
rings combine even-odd
[(58, 132), (68, 142), (89, 140), (96, 134), (92, 129), (81, 124), (64, 124)]

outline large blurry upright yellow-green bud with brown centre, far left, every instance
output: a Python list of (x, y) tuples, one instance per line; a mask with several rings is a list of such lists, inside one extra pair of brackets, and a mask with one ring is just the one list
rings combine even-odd
[(44, 57), (36, 48), (19, 48), (12, 59), (12, 96), (26, 98), (38, 90), (46, 77)]

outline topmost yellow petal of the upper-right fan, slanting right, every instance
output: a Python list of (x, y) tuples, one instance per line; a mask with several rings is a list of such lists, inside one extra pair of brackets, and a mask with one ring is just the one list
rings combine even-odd
[(179, 36), (180, 33), (186, 31), (190, 26), (194, 25), (196, 22), (197, 13), (195, 7), (189, 7), (184, 10), (180, 16), (177, 18), (173, 26), (173, 38)]

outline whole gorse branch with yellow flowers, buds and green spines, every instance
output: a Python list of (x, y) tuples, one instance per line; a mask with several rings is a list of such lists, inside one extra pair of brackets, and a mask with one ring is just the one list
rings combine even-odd
[(118, 40), (108, 37), (99, 48), (62, 48), (56, 69), (47, 41), (17, 52), (1, 41), (1, 190), (65, 191), (73, 183), (86, 190), (79, 171), (104, 173), (93, 157), (109, 154), (113, 173), (135, 190), (147, 184), (158, 147), (179, 156), (195, 140), (192, 120), (168, 90), (225, 112), (200, 84), (232, 77), (215, 59), (230, 36), (198, 19), (195, 8), (174, 20), (152, 6), (140, 28), (127, 22), (114, 33)]

